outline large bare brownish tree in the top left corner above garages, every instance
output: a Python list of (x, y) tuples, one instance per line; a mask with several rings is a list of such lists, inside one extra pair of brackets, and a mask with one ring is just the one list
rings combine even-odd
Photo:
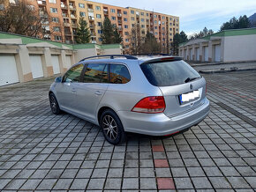
[[(4, 2), (0, 0), (0, 4)], [(26, 0), (20, 0), (0, 11), (0, 31), (43, 38), (55, 33), (49, 28), (49, 20), (51, 18), (46, 10), (38, 11)]]

